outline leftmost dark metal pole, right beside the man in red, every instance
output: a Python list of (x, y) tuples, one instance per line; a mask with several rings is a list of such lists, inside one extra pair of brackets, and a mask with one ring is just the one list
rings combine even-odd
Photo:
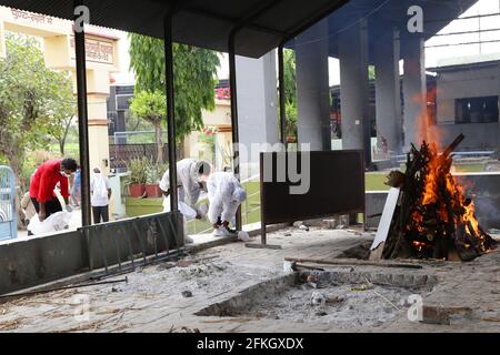
[[(74, 8), (82, 6), (82, 0), (73, 2)], [(78, 16), (74, 16), (77, 20)], [(82, 24), (83, 26), (83, 24)], [(80, 144), (81, 171), (81, 223), (90, 225), (90, 170), (89, 170), (89, 114), (87, 110), (87, 68), (86, 33), (83, 28), (74, 29), (74, 51), (77, 63), (78, 129)]]

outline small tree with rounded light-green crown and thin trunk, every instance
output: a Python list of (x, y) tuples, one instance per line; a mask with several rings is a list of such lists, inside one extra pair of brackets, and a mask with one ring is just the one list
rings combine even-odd
[(163, 164), (163, 140), (161, 139), (161, 126), (167, 112), (166, 95), (156, 90), (136, 92), (130, 101), (130, 111), (139, 119), (148, 121), (154, 126), (154, 141), (158, 149), (157, 163)]

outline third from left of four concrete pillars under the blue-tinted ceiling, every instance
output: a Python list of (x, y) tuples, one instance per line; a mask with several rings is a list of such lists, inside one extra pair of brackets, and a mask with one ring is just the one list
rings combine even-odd
[(402, 149), (401, 94), (398, 32), (390, 27), (377, 34), (376, 67), (377, 134), (387, 141), (391, 153)]

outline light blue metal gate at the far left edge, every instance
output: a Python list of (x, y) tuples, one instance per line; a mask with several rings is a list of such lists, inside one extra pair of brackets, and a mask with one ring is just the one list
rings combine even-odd
[(16, 178), (12, 169), (0, 165), (0, 241), (17, 236)]

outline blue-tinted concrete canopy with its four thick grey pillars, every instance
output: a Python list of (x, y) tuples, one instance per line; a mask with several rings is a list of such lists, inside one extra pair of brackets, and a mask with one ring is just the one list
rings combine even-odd
[[(328, 58), (338, 58), (341, 90), (337, 123), (342, 148), (362, 148), (369, 165), (376, 121), (377, 135), (389, 152), (407, 151), (422, 135), (418, 118), (427, 104), (424, 42), (476, 2), (352, 0), (309, 33), (287, 42), (287, 48), (297, 50), (299, 141), (317, 142), (317, 148), (330, 149)], [(409, 23), (417, 23), (414, 19), (421, 20), (417, 22), (422, 28), (413, 30), (410, 26), (409, 30)], [(401, 110), (399, 89), (401, 59), (404, 110)], [(368, 100), (370, 64), (377, 78), (376, 110), (370, 109)]]

